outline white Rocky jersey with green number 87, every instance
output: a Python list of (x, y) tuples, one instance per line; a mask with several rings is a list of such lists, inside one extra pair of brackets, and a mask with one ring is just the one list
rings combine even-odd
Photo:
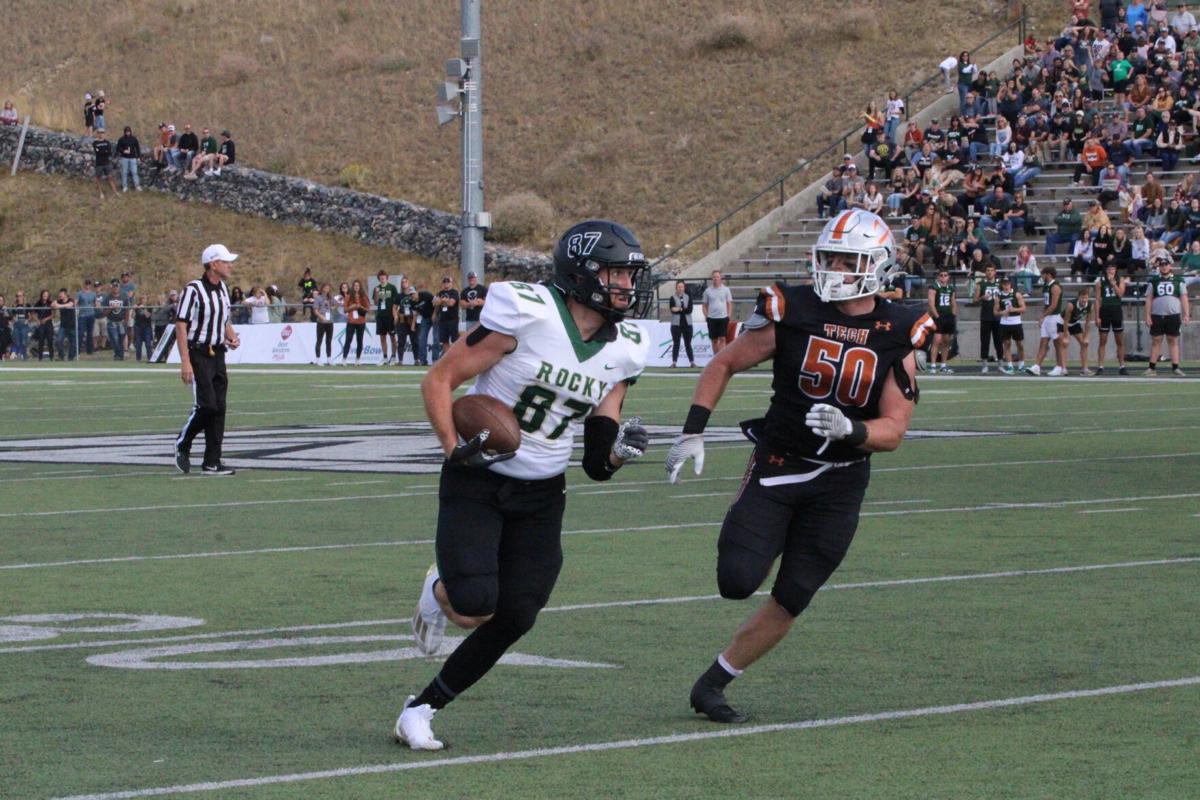
[(469, 395), (487, 395), (512, 408), (521, 425), (515, 458), (490, 467), (521, 480), (566, 470), (578, 421), (620, 381), (632, 384), (646, 367), (649, 338), (634, 323), (606, 325), (584, 342), (554, 288), (530, 283), (487, 287), (479, 323), (517, 347), (481, 373)]

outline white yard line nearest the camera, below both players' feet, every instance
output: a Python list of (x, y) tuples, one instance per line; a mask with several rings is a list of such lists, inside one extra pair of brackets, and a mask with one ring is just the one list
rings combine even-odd
[[(554, 756), (574, 756), (578, 753), (608, 752), (614, 750), (634, 750), (638, 747), (656, 747), (661, 745), (679, 745), (694, 741), (706, 741), (710, 739), (732, 739), (734, 736), (754, 736), (764, 733), (785, 733), (793, 730), (814, 730), (818, 728), (833, 728), (847, 724), (862, 724), (870, 722), (890, 722), (894, 720), (913, 720), (920, 717), (944, 716), (950, 714), (967, 714), (972, 711), (992, 711), (996, 709), (1020, 708), (1025, 705), (1039, 705), (1043, 703), (1055, 703), (1058, 700), (1075, 700), (1093, 697), (1111, 697), (1118, 694), (1130, 694), (1134, 692), (1148, 692), (1163, 688), (1181, 688), (1186, 686), (1200, 685), (1200, 675), (1190, 678), (1177, 678), (1174, 680), (1156, 680), (1139, 684), (1120, 684), (1116, 686), (1102, 686), (1098, 688), (1076, 688), (1061, 692), (1046, 692), (1042, 694), (1025, 694), (1019, 697), (1003, 697), (991, 700), (976, 700), (970, 703), (954, 703), (949, 705), (926, 705), (913, 709), (900, 709), (892, 711), (876, 711), (872, 714), (854, 714), (841, 717), (827, 717), (823, 720), (800, 720), (797, 722), (780, 722), (775, 724), (757, 724), (746, 727), (719, 727), (707, 730), (666, 734), (660, 736), (644, 736), (637, 739), (618, 739), (611, 741), (595, 741), (581, 745), (563, 745), (559, 747), (540, 747), (535, 750), (518, 750), (499, 753), (481, 753), (478, 756), (457, 756), (443, 758), (427, 758), (420, 760), (394, 762), (391, 764), (370, 764), (364, 766), (343, 766), (340, 769), (316, 770), (311, 772), (292, 772), (286, 775), (264, 775), (250, 778), (235, 778), (226, 781), (205, 781), (200, 783), (181, 783), (149, 789), (131, 789), (126, 792), (107, 792), (100, 794), (77, 794), (58, 800), (132, 800), (133, 798), (152, 798), (166, 794), (193, 794), (198, 792), (222, 792), (227, 789), (252, 788), (259, 786), (278, 786), (283, 783), (299, 783), (304, 781), (318, 781), (337, 777), (354, 777), (359, 775), (383, 775), (389, 772), (402, 772), (415, 769), (436, 769), (440, 766), (461, 766), (466, 764), (494, 764), (504, 762), (526, 760), (530, 758), (550, 758)], [(413, 756), (412, 758), (416, 758)]]

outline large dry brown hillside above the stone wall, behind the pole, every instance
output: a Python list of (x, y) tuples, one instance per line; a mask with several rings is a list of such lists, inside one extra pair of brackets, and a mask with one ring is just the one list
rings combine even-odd
[[(552, 218), (530, 243), (602, 215), (658, 253), (846, 130), (868, 100), (1000, 28), (1007, 5), (485, 4), (487, 201), (547, 200)], [(229, 127), (256, 167), (336, 182), (362, 164), (370, 191), (457, 205), (456, 126), (438, 128), (432, 108), (457, 55), (457, 2), (5, 10), (0, 95), (38, 124), (80, 130), (84, 91), (103, 89), (109, 127), (132, 125), (144, 143), (161, 120)]]

